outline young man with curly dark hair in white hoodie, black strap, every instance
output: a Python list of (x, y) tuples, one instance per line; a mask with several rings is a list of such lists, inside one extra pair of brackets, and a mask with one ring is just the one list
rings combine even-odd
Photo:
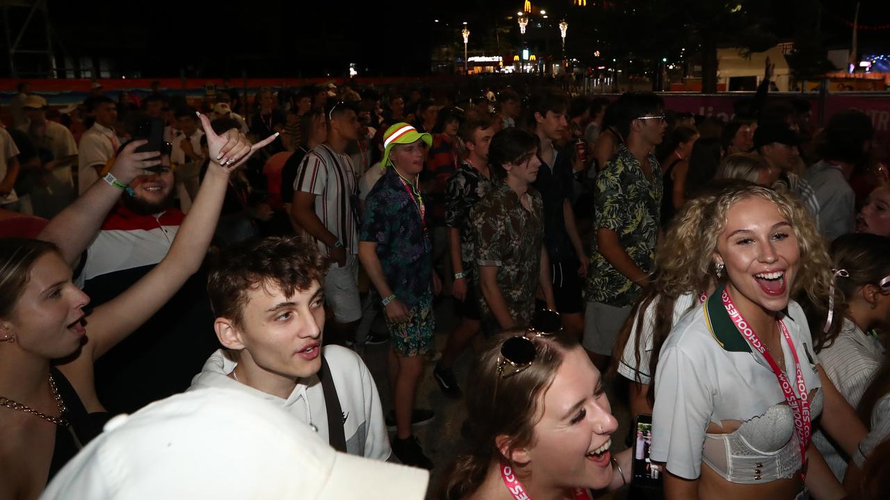
[(207, 359), (189, 390), (255, 394), (334, 448), (386, 460), (389, 440), (368, 367), (348, 349), (321, 346), (326, 266), (318, 248), (295, 237), (246, 241), (219, 254), (207, 293), (223, 349)]

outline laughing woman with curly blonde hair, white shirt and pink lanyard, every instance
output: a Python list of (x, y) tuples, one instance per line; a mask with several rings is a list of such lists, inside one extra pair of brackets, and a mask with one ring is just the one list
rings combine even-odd
[[(666, 498), (837, 497), (809, 446), (823, 396), (809, 329), (792, 294), (828, 293), (829, 262), (812, 218), (773, 190), (732, 186), (684, 214), (694, 276), (718, 286), (661, 350), (652, 415)], [(832, 412), (833, 413), (833, 412)], [(818, 465), (818, 467), (817, 467)], [(827, 477), (828, 476), (828, 477)]]

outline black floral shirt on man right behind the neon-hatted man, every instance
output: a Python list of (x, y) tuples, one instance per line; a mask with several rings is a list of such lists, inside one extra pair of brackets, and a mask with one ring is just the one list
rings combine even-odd
[(460, 258), (464, 262), (464, 272), (473, 268), (475, 238), (473, 237), (473, 221), (470, 211), (479, 200), (485, 197), (491, 187), (491, 181), (465, 163), (449, 177), (445, 188), (445, 225), (460, 230)]

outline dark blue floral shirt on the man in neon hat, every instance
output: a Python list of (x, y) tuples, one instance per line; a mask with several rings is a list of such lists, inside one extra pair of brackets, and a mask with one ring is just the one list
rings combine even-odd
[(359, 234), (360, 241), (377, 244), (386, 283), (409, 309), (432, 294), (433, 283), (433, 246), (415, 202), (423, 203), (417, 194), (394, 168), (386, 168), (365, 199)]

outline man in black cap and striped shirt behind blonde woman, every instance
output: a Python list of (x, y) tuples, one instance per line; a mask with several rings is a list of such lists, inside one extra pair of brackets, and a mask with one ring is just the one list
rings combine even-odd
[(758, 125), (754, 131), (754, 149), (757, 154), (764, 158), (768, 165), (781, 171), (776, 184), (781, 184), (796, 194), (818, 223), (821, 218), (821, 207), (813, 186), (794, 173), (794, 168), (800, 161), (799, 145), (800, 137), (784, 123)]

